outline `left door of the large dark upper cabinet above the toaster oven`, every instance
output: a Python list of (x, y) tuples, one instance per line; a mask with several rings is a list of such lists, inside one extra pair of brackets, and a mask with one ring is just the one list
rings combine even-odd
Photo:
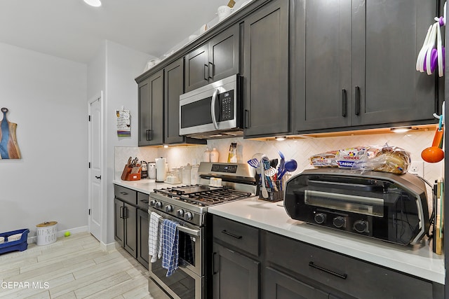
[(302, 85), (293, 86), (295, 132), (349, 126), (351, 0), (305, 1), (294, 9), (293, 84)]

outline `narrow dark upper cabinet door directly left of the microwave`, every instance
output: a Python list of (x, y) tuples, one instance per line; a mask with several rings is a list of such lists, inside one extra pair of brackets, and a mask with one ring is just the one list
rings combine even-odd
[(180, 59), (165, 68), (164, 82), (165, 137), (164, 143), (182, 142), (180, 136), (180, 95), (184, 93), (184, 60)]

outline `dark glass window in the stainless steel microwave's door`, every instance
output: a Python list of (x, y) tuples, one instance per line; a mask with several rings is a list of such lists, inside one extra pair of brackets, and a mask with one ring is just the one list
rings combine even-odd
[(181, 127), (196, 127), (212, 123), (210, 103), (212, 97), (181, 106)]

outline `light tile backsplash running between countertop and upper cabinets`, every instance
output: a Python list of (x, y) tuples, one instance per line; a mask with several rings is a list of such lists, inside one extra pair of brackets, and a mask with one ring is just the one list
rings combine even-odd
[[(320, 137), (307, 139), (287, 139), (285, 141), (257, 141), (250, 139), (228, 138), (208, 140), (207, 145), (199, 146), (170, 146), (162, 147), (116, 147), (115, 148), (115, 179), (120, 179), (123, 166), (130, 156), (138, 157), (139, 160), (147, 162), (154, 161), (154, 158), (163, 157), (167, 159), (171, 168), (195, 164), (203, 160), (203, 152), (206, 148), (212, 150), (217, 148), (220, 153), (219, 162), (227, 162), (229, 145), (237, 143), (237, 157), (239, 163), (246, 163), (255, 153), (264, 153), (270, 159), (279, 158), (278, 151), (281, 151), (286, 159), (293, 158), (297, 161), (297, 171), (312, 168), (309, 157), (317, 153), (337, 150), (340, 148), (350, 148), (354, 146), (377, 145), (398, 146), (410, 153), (412, 161), (422, 161), (421, 151), (428, 146), (434, 137), (433, 131), (427, 132), (407, 132), (403, 134), (367, 134), (344, 137)], [(424, 162), (424, 179), (433, 183), (443, 174), (443, 161), (438, 163)]]

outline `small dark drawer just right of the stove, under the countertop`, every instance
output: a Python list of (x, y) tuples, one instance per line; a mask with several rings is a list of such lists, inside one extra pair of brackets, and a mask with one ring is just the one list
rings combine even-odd
[(259, 256), (259, 230), (226, 218), (213, 217), (213, 237)]

